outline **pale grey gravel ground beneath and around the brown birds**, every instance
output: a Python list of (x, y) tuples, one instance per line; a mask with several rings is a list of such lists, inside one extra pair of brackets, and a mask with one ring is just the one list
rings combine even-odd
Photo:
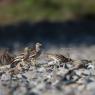
[[(94, 46), (72, 47), (69, 51), (51, 48), (47, 52), (68, 52), (75, 62), (49, 65), (42, 55), (36, 66), (26, 64), (16, 75), (8, 72), (9, 65), (0, 67), (0, 95), (95, 95)], [(84, 64), (82, 59), (92, 62)], [(84, 65), (74, 69), (77, 64)]]

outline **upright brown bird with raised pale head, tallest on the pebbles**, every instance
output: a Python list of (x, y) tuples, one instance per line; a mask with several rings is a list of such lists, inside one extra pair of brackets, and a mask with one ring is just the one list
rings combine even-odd
[(41, 47), (42, 47), (41, 43), (36, 43), (35, 46), (30, 49), (29, 58), (33, 65), (36, 64), (37, 58), (41, 55)]

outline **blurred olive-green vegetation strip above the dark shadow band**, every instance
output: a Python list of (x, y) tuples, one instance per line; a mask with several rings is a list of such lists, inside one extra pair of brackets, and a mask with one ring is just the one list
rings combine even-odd
[(95, 14), (95, 0), (0, 0), (0, 24), (75, 20)]

